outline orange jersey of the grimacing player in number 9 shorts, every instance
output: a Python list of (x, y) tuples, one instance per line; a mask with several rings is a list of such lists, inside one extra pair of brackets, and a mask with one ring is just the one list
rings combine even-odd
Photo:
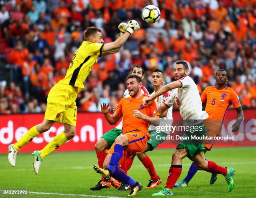
[(123, 115), (123, 134), (138, 130), (145, 134), (148, 139), (150, 138), (148, 133), (148, 127), (150, 123), (143, 119), (133, 117), (134, 110), (139, 110), (141, 113), (147, 115), (148, 117), (156, 117), (160, 115), (155, 101), (153, 101), (147, 107), (143, 106), (142, 99), (145, 96), (147, 95), (142, 94), (139, 98), (133, 98), (129, 96), (120, 100), (116, 112), (120, 115)]

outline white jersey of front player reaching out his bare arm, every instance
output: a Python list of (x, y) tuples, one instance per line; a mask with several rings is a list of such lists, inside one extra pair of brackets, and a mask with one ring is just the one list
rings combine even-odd
[(182, 83), (182, 87), (173, 89), (165, 104), (169, 107), (172, 107), (174, 103), (177, 104), (185, 125), (200, 124), (202, 120), (208, 117), (208, 114), (202, 111), (202, 102), (197, 85), (189, 76), (184, 76), (178, 81)]

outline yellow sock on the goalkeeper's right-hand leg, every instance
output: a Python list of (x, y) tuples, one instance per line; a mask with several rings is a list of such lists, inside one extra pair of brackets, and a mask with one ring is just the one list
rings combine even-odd
[(67, 142), (67, 137), (64, 132), (60, 133), (59, 135), (56, 135), (51, 142), (46, 145), (40, 153), (40, 157), (42, 160), (44, 160), (44, 157), (49, 155), (51, 152), (59, 148), (60, 145), (63, 145), (65, 142)]

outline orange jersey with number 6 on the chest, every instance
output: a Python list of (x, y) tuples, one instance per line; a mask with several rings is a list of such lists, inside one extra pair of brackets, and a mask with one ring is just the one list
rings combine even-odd
[(201, 94), (201, 101), (206, 102), (207, 119), (223, 120), (231, 104), (235, 108), (241, 107), (238, 94), (228, 86), (220, 90), (216, 86), (208, 86)]

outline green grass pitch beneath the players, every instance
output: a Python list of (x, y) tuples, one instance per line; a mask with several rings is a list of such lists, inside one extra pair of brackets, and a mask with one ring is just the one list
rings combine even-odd
[[(173, 149), (154, 150), (148, 152), (157, 173), (166, 182), (170, 167)], [(218, 175), (215, 184), (210, 185), (210, 173), (199, 171), (189, 183), (187, 188), (174, 188), (176, 197), (255, 197), (256, 196), (256, 147), (227, 147), (213, 148), (206, 153), (206, 158), (217, 162), (219, 165), (235, 169), (235, 187), (228, 192), (227, 183), (223, 175)], [(95, 173), (92, 165), (97, 164), (95, 152), (56, 152), (46, 157), (35, 175), (32, 169), (32, 155), (20, 153), (17, 156), (16, 166), (11, 167), (7, 154), (0, 155), (0, 189), (29, 190), (32, 192), (49, 192), (64, 194), (83, 194), (126, 197), (129, 192), (117, 192), (115, 188), (91, 191), (89, 188), (100, 180), (100, 175)], [(183, 171), (180, 179), (187, 174), (191, 161), (183, 160)], [(143, 186), (148, 184), (149, 175), (141, 162), (136, 158), (128, 174), (138, 180)], [(137, 197), (149, 197), (161, 190), (161, 186), (154, 189), (143, 189)], [(30, 197), (79, 197), (66, 195), (42, 195), (30, 193)], [(11, 197), (11, 196), (4, 196)], [(17, 197), (17, 196), (13, 196)], [(28, 197), (28, 196), (22, 196)], [(82, 197), (82, 196), (81, 196)]]

